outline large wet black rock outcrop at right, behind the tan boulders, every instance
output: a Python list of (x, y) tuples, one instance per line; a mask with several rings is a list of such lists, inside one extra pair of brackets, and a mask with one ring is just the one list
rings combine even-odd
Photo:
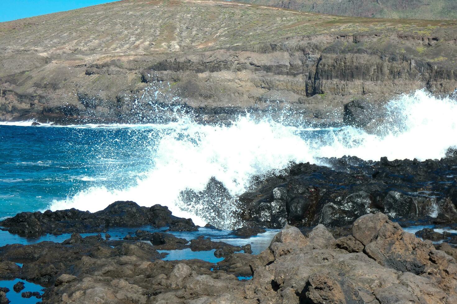
[(239, 197), (243, 224), (280, 228), (350, 224), (369, 212), (390, 219), (456, 224), (457, 159), (364, 161), (321, 159), (329, 166), (292, 165)]

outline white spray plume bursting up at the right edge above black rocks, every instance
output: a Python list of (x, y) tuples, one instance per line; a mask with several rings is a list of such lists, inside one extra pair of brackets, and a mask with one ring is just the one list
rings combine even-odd
[(386, 105), (381, 134), (345, 127), (331, 132), (328, 144), (314, 142), (314, 155), (354, 155), (364, 160), (440, 159), (457, 145), (457, 103), (436, 98), (425, 91), (403, 95)]

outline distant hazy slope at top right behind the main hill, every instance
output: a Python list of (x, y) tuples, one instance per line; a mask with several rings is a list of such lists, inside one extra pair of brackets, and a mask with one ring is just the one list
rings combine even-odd
[(241, 0), (321, 14), (425, 20), (456, 20), (455, 0)]

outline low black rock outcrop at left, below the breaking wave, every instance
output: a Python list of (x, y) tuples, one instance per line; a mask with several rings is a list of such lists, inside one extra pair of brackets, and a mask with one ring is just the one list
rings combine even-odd
[(170, 230), (195, 231), (191, 219), (173, 216), (167, 207), (138, 206), (133, 201), (117, 201), (101, 211), (91, 213), (74, 208), (45, 212), (21, 212), (0, 222), (9, 232), (22, 235), (69, 232), (102, 232), (110, 227), (170, 226)]

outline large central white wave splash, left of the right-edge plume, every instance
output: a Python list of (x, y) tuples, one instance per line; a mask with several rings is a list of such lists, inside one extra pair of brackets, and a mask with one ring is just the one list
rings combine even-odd
[(249, 116), (231, 126), (181, 124), (163, 135), (153, 157), (154, 168), (137, 185), (120, 190), (92, 187), (53, 201), (51, 209), (97, 211), (113, 201), (131, 200), (142, 206), (168, 206), (176, 216), (204, 225), (212, 215), (196, 216), (205, 207), (198, 204), (192, 206), (193, 212), (183, 211), (181, 191), (203, 191), (214, 177), (235, 196), (246, 191), (253, 175), (284, 168), (291, 160), (313, 161), (297, 129), (269, 120), (254, 122)]

